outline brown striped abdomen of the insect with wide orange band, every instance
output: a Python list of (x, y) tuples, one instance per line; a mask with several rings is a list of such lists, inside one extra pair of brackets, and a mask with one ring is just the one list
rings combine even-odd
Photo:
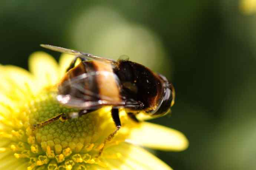
[[(86, 78), (79, 78), (83, 75)], [(83, 61), (70, 69), (59, 85), (59, 94), (70, 94), (85, 101), (120, 101), (112, 65), (100, 61)]]

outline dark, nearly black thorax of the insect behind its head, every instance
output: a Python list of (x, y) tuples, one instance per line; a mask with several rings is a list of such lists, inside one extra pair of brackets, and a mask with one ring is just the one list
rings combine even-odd
[(141, 64), (125, 60), (119, 61), (114, 72), (121, 82), (122, 96), (127, 100), (142, 102), (143, 111), (151, 112), (157, 108), (163, 91), (162, 82), (157, 74)]

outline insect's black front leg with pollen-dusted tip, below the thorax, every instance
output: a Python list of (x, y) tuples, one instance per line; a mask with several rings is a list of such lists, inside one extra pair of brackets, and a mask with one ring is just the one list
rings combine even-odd
[[(111, 115), (112, 115), (112, 119), (115, 122), (116, 130), (113, 133), (111, 133), (110, 135), (108, 135), (108, 137), (106, 137), (106, 139), (104, 140), (104, 146), (106, 145), (107, 142), (109, 142), (113, 139), (113, 137), (116, 135), (118, 130), (121, 128), (121, 121), (120, 121), (120, 118), (119, 118), (119, 110), (112, 108)], [(101, 154), (104, 150), (104, 146), (101, 148), (101, 150), (99, 150), (98, 157), (101, 156)]]

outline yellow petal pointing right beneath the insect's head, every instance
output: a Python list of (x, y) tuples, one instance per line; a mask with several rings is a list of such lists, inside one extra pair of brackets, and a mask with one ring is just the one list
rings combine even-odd
[(179, 131), (153, 123), (142, 122), (131, 131), (128, 141), (159, 150), (181, 151), (187, 149), (188, 140)]

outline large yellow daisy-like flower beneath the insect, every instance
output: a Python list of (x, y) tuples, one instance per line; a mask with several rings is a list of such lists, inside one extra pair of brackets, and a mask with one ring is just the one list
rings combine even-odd
[(109, 114), (111, 107), (32, 130), (35, 123), (75, 111), (55, 99), (56, 84), (72, 58), (62, 55), (58, 65), (50, 55), (35, 52), (29, 60), (31, 73), (19, 67), (0, 65), (0, 169), (170, 170), (157, 157), (131, 143), (181, 151), (188, 146), (186, 137), (160, 125), (134, 123), (124, 111), (120, 113), (121, 130), (97, 157), (104, 139), (115, 130)]

